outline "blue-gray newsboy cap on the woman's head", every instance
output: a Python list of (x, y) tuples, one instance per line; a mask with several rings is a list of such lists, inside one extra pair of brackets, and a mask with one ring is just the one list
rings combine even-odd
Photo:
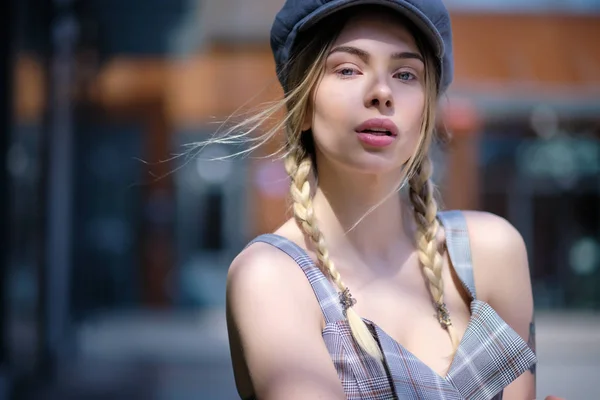
[(452, 30), (450, 15), (441, 0), (286, 0), (271, 28), (271, 49), (284, 88), (284, 70), (298, 36), (323, 18), (359, 5), (387, 6), (412, 21), (435, 53), (441, 77), (438, 93), (448, 89), (454, 72)]

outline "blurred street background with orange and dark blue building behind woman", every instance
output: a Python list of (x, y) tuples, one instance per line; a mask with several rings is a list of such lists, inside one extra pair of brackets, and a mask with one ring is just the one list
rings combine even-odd
[[(598, 398), (600, 1), (446, 3), (446, 207), (497, 213), (527, 242), (539, 397)], [(286, 218), (284, 170), (164, 161), (281, 95), (282, 4), (5, 2), (0, 399), (236, 398), (227, 267)]]

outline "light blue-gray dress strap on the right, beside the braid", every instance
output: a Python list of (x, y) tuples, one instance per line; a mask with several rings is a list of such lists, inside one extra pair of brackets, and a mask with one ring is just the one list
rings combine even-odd
[(474, 300), (477, 296), (471, 261), (471, 244), (469, 242), (469, 231), (467, 230), (465, 216), (462, 211), (452, 210), (438, 213), (438, 219), (444, 226), (446, 246), (454, 270)]

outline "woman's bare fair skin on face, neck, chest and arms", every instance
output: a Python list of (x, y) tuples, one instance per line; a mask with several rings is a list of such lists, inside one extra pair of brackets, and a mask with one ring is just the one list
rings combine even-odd
[[(423, 62), (413, 56), (419, 51), (409, 32), (381, 16), (351, 19), (333, 49), (305, 122), (317, 147), (319, 186), (313, 204), (319, 227), (358, 300), (358, 314), (445, 376), (452, 345), (432, 317), (431, 294), (412, 239), (411, 211), (398, 196), (392, 197), (346, 233), (394, 189), (403, 164), (415, 151), (425, 96)], [(389, 118), (398, 127), (391, 146), (372, 148), (357, 139), (354, 128), (374, 117)], [(527, 340), (533, 301), (523, 240), (499, 217), (465, 215), (478, 298)], [(294, 220), (276, 233), (316, 259)], [(470, 318), (468, 298), (447, 255), (443, 279), (445, 301), (462, 336)], [(321, 337), (325, 325), (315, 295), (303, 272), (283, 252), (257, 243), (234, 260), (227, 319), (242, 397), (345, 398)], [(534, 397), (529, 372), (505, 389), (505, 399)]]

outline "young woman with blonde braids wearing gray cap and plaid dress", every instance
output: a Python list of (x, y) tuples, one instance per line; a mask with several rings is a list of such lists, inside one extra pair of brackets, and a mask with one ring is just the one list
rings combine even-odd
[(535, 398), (521, 236), (434, 197), (428, 151), (453, 65), (443, 4), (288, 0), (271, 44), (285, 98), (232, 132), (285, 110), (249, 140), (284, 127), (294, 217), (230, 267), (240, 396)]

